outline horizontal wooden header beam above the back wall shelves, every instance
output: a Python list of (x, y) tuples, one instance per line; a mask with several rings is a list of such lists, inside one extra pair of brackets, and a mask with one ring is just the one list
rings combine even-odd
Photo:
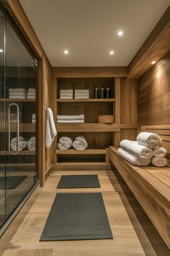
[(53, 77), (127, 77), (127, 67), (53, 67)]

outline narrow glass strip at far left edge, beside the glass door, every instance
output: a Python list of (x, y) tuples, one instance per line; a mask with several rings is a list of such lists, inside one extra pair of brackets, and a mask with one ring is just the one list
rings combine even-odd
[(5, 221), (4, 13), (0, 9), (0, 227)]

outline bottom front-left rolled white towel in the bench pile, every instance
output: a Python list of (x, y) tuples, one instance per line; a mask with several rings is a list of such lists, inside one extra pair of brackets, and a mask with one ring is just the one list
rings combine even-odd
[(151, 163), (151, 158), (137, 158), (135, 155), (128, 153), (122, 148), (119, 148), (117, 152), (122, 158), (135, 166), (148, 166), (149, 163)]

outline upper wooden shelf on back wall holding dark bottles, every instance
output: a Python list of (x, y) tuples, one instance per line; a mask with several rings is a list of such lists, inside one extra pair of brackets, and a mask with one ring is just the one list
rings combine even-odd
[(115, 101), (115, 98), (89, 98), (89, 99), (57, 99), (58, 103), (112, 103)]

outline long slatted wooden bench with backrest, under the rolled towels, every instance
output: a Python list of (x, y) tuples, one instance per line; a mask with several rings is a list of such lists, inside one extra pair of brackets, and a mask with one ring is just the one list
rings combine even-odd
[[(170, 152), (170, 126), (164, 126), (164, 129), (161, 126), (142, 127), (142, 131), (158, 133), (168, 153)], [(115, 147), (110, 147), (110, 161), (170, 249), (170, 167), (133, 166), (118, 155)]]

